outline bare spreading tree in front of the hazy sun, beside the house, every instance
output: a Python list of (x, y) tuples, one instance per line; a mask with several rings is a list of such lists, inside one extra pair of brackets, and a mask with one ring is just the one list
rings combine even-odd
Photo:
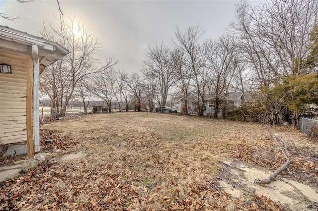
[[(65, 115), (66, 107), (79, 82), (90, 74), (111, 68), (117, 61), (113, 62), (112, 58), (109, 58), (103, 65), (96, 67), (98, 59), (94, 55), (100, 52), (100, 42), (83, 25), (76, 24), (74, 18), (68, 22), (61, 16), (57, 28), (52, 27), (52, 29), (58, 35), (57, 41), (70, 53), (60, 63), (48, 68), (51, 70), (41, 78), (41, 90), (50, 96), (53, 108), (57, 109), (58, 115)], [(41, 34), (46, 39), (56, 41), (46, 29)], [(63, 86), (58, 90), (52, 90), (50, 87), (54, 87), (55, 82), (51, 79), (54, 79), (52, 75), (56, 74), (59, 75)], [(59, 99), (56, 96), (59, 96)]]

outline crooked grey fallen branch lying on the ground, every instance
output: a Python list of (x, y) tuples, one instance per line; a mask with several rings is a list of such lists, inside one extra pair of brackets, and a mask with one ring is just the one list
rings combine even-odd
[(272, 173), (272, 175), (270, 175), (267, 179), (263, 179), (263, 180), (255, 179), (254, 180), (255, 184), (269, 184), (271, 181), (273, 181), (277, 177), (277, 175), (280, 172), (285, 170), (290, 163), (290, 159), (289, 159), (290, 154), (288, 152), (288, 146), (289, 146), (290, 142), (286, 142), (282, 138), (277, 138), (273, 135), (271, 135), (271, 136), (276, 141), (276, 143), (279, 146), (280, 150), (282, 151), (284, 157), (286, 158), (286, 161), (281, 167), (277, 168), (277, 170), (274, 171), (274, 173)]

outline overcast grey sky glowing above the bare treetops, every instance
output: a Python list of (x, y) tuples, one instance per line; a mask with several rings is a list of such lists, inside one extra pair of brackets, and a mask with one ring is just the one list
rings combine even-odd
[[(216, 38), (234, 19), (238, 0), (59, 0), (64, 18), (76, 21), (100, 39), (103, 53), (101, 59), (113, 55), (118, 59), (116, 69), (139, 72), (146, 59), (149, 46), (162, 41), (171, 44), (176, 26), (185, 29), (199, 24), (206, 30), (206, 38)], [(55, 25), (54, 15), (59, 16), (56, 0), (35, 0), (19, 3), (16, 0), (0, 0), (1, 13), (20, 20), (0, 19), (7, 25), (29, 34), (37, 35), (45, 25)]]

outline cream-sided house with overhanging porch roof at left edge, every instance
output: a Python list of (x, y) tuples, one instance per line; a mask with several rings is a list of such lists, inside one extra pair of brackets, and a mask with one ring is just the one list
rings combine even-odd
[(58, 43), (0, 26), (0, 151), (39, 152), (39, 77), (69, 51)]

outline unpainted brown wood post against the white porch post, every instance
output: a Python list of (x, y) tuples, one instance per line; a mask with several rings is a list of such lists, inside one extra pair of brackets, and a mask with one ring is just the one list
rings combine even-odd
[(33, 89), (33, 59), (32, 50), (28, 48), (26, 68), (26, 140), (29, 161), (34, 159), (33, 124), (32, 124), (32, 90)]

